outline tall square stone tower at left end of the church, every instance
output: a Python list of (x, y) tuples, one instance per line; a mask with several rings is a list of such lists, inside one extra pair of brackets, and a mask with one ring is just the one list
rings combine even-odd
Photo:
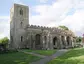
[(25, 48), (29, 25), (28, 6), (14, 4), (10, 10), (10, 48)]

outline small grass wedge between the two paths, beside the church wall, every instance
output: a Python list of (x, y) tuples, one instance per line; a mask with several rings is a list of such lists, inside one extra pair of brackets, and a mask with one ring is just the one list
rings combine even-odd
[(23, 51), (34, 52), (46, 56), (52, 55), (56, 52), (56, 50), (28, 50), (28, 49), (24, 49)]

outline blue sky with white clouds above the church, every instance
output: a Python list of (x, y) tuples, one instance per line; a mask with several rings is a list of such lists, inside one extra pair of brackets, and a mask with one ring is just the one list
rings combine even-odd
[(29, 23), (67, 26), (76, 36), (84, 33), (84, 0), (2, 0), (0, 2), (0, 38), (10, 34), (10, 8), (14, 3), (29, 6)]

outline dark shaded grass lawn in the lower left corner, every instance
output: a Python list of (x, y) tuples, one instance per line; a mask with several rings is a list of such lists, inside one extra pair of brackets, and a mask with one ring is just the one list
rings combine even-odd
[(39, 59), (40, 57), (22, 52), (0, 54), (0, 64), (29, 64), (30, 62)]

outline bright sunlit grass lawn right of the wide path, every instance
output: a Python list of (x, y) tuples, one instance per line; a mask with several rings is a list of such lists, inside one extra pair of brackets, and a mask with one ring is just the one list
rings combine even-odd
[(48, 64), (84, 64), (84, 48), (72, 49)]

